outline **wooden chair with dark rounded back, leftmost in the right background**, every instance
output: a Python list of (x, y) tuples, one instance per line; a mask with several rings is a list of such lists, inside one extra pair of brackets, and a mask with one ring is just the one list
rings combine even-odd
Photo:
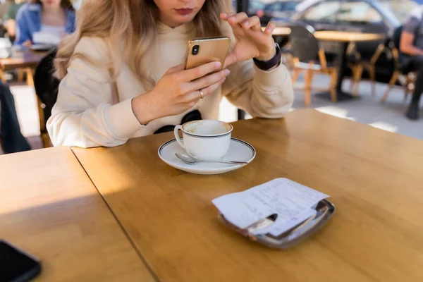
[(329, 66), (324, 49), (313, 35), (314, 29), (309, 25), (291, 27), (290, 40), (294, 57), (293, 83), (301, 71), (305, 71), (305, 106), (311, 102), (311, 86), (315, 73), (331, 75), (331, 99), (336, 102), (336, 79), (338, 68)]

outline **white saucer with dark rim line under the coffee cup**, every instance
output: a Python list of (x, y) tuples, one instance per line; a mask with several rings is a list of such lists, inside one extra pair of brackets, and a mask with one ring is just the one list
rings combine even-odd
[[(159, 148), (159, 157), (162, 161), (169, 166), (189, 173), (219, 174), (235, 171), (235, 169), (243, 167), (243, 165), (237, 164), (211, 164), (206, 162), (185, 164), (175, 156), (176, 153), (186, 154), (185, 149), (180, 147), (175, 139), (164, 143)], [(223, 161), (247, 161), (247, 163), (250, 163), (255, 158), (255, 155), (255, 149), (250, 144), (239, 139), (231, 138), (231, 145), (228, 153), (223, 157)]]

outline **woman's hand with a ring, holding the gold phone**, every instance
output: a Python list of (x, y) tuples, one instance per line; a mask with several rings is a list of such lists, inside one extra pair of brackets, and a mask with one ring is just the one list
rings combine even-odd
[(221, 68), (219, 62), (186, 71), (184, 66), (170, 68), (157, 82), (154, 90), (133, 99), (133, 112), (141, 124), (164, 116), (182, 114), (195, 106), (202, 94), (204, 97), (212, 94), (229, 74), (227, 69), (213, 73)]

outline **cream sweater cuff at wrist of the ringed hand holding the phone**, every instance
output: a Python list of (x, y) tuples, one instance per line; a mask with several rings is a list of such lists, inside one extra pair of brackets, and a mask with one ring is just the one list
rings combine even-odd
[(135, 132), (145, 127), (135, 117), (132, 99), (110, 106), (104, 111), (104, 118), (116, 139), (128, 140)]

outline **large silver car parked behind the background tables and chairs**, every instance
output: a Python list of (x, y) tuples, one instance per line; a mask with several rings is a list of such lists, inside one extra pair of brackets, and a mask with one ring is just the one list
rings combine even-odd
[[(392, 2), (395, 0), (306, 0), (298, 4), (296, 13), (290, 20), (283, 18), (274, 18), (274, 20), (278, 25), (301, 22), (311, 25), (315, 30), (382, 33), (386, 37), (391, 37), (396, 27), (401, 24), (398, 17), (386, 6), (386, 4), (392, 5)], [(407, 0), (400, 0), (398, 5), (404, 7), (405, 2)], [(409, 9), (411, 10), (412, 7), (411, 5)], [(402, 11), (403, 14), (406, 12)], [(370, 58), (380, 43), (357, 43), (357, 50), (363, 58)], [(337, 47), (337, 44), (324, 43), (325, 51), (329, 54), (336, 54)], [(376, 80), (388, 82), (392, 73), (392, 59), (389, 56), (381, 56), (376, 64)]]

